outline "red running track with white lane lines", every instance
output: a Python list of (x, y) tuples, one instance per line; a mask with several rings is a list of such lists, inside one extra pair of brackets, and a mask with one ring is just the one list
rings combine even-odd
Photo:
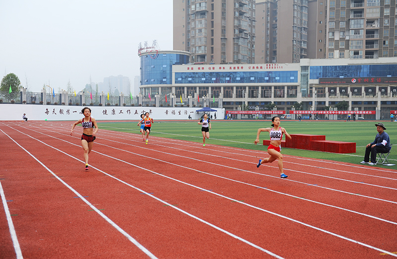
[(394, 258), (397, 171), (0, 122), (0, 258)]

